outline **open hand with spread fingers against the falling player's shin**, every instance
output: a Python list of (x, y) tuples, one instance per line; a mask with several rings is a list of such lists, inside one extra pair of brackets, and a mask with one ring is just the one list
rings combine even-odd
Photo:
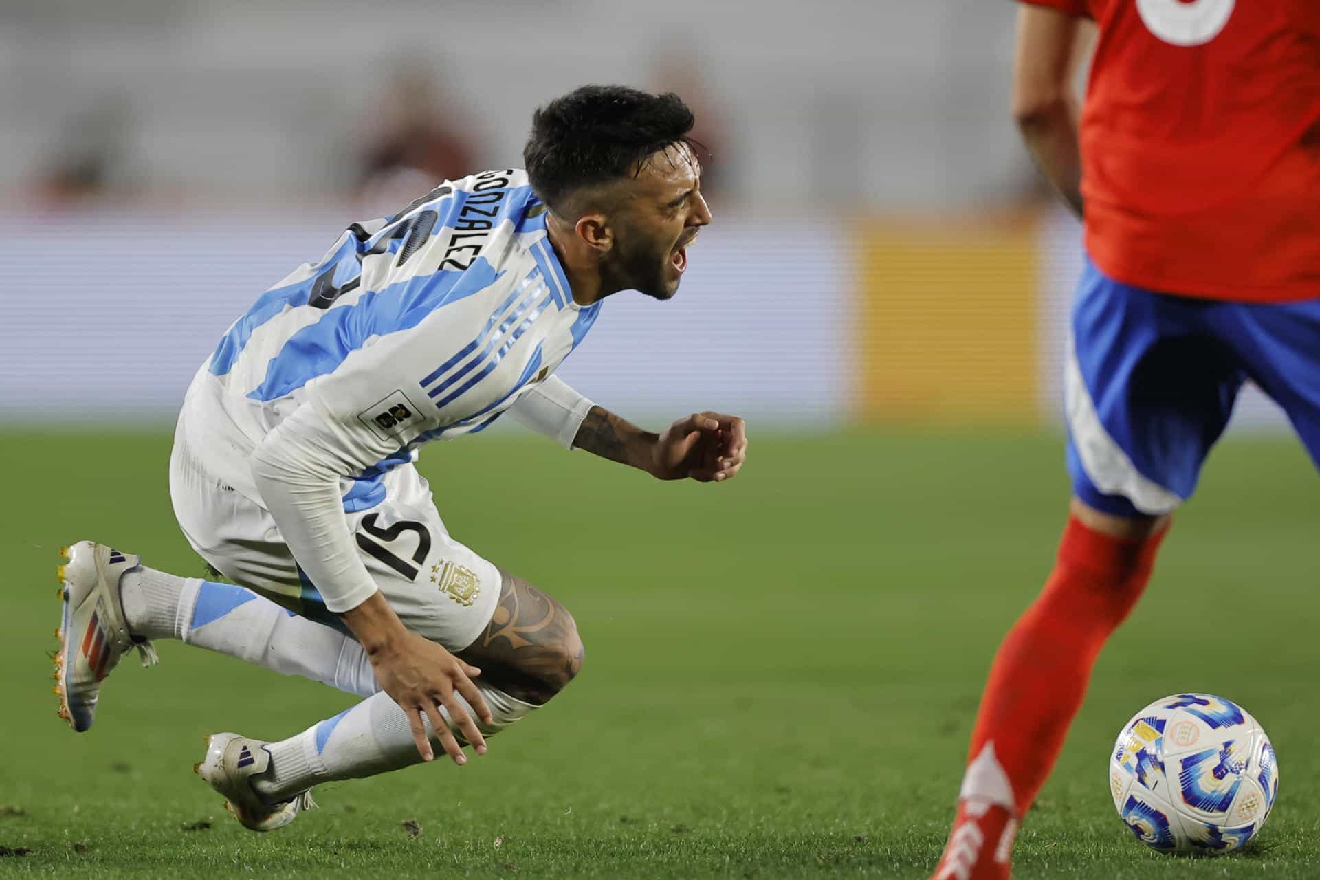
[(477, 728), (475, 719), (458, 699), (461, 695), (482, 722), (491, 723), (491, 710), (473, 683), (473, 678), (482, 673), (480, 669), (409, 631), (372, 654), (371, 661), (381, 689), (408, 715), (408, 726), (412, 727), (413, 740), (422, 760), (429, 761), (434, 757), (422, 723), (424, 718), (429, 718), (445, 753), (454, 760), (454, 764), (467, 763), (462, 744), (440, 711), (441, 706), (477, 753), (486, 753), (486, 739)]

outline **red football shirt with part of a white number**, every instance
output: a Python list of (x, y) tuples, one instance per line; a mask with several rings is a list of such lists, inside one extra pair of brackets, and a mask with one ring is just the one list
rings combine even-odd
[(1187, 296), (1320, 297), (1320, 0), (1023, 0), (1096, 20), (1086, 249)]

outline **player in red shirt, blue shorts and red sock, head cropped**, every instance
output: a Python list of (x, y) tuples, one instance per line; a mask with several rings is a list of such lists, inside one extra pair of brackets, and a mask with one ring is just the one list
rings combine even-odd
[(936, 880), (1008, 876), (1096, 657), (1243, 381), (1320, 463), (1320, 3), (1023, 0), (1014, 116), (1086, 231), (1073, 499), (1053, 574), (990, 670)]

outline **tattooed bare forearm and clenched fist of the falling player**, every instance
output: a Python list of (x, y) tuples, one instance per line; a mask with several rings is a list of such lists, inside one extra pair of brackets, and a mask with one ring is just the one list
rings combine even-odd
[(737, 416), (694, 413), (652, 434), (593, 405), (573, 446), (661, 480), (722, 482), (734, 476), (747, 456), (747, 426)]

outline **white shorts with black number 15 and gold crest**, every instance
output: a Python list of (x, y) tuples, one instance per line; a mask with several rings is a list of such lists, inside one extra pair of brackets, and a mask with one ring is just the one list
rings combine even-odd
[[(182, 417), (174, 431), (169, 487), (183, 536), (216, 571), (305, 617), (343, 629), (293, 559), (271, 512), (213, 478), (194, 458)], [(500, 573), (449, 537), (416, 467), (395, 467), (385, 474), (384, 487), (380, 504), (347, 515), (362, 561), (405, 627), (461, 650), (495, 613)]]

